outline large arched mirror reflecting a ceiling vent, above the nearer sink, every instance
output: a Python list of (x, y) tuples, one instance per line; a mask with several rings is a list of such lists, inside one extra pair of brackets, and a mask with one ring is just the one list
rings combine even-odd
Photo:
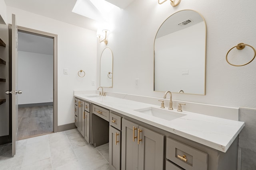
[(154, 42), (154, 90), (205, 95), (206, 23), (193, 10), (176, 12)]

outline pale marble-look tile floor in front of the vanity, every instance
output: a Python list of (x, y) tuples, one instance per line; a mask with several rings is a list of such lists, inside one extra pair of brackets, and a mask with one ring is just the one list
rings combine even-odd
[(94, 148), (77, 129), (0, 145), (0, 170), (109, 170), (108, 144)]

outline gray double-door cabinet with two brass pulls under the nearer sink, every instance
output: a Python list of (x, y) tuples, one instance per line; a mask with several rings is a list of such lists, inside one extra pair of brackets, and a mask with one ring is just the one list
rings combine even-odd
[(122, 170), (163, 170), (164, 135), (122, 119)]

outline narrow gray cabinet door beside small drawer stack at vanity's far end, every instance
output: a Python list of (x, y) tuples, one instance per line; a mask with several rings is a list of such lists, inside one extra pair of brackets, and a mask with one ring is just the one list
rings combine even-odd
[(85, 116), (85, 110), (84, 110), (84, 101), (77, 100), (78, 101), (78, 123), (77, 123), (77, 129), (81, 133), (81, 135), (84, 137), (84, 116)]

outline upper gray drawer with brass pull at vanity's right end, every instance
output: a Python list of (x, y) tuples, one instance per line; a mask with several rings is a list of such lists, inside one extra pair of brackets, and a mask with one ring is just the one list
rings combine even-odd
[(186, 170), (207, 170), (208, 154), (171, 138), (166, 139), (166, 158)]

